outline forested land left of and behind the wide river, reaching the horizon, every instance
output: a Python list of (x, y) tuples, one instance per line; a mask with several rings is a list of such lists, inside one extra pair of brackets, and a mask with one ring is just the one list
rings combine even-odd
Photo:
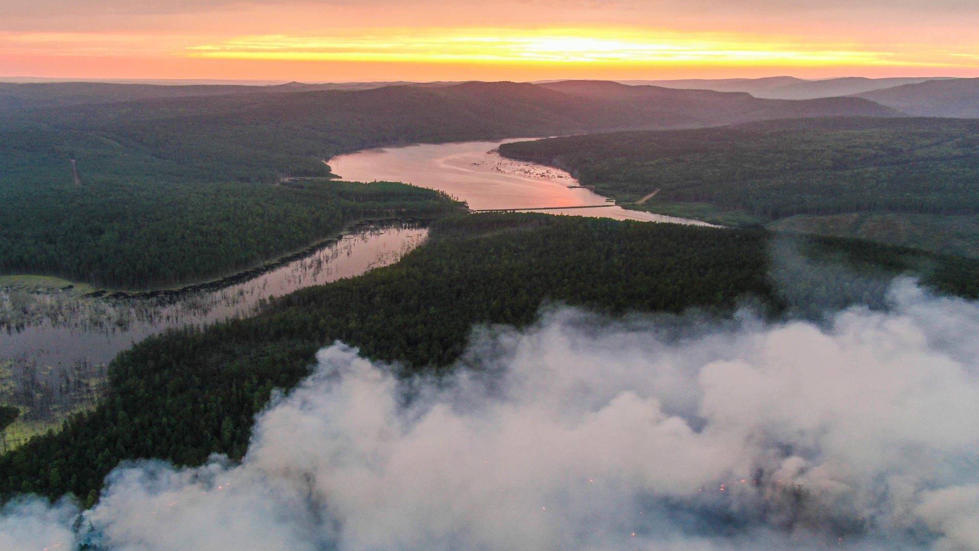
[(583, 92), (593, 82), (303, 92), (0, 85), (0, 273), (161, 286), (255, 265), (378, 209), (447, 208), (426, 203), (434, 196), (419, 190), (394, 203), (352, 205), (327, 185), (272, 187), (289, 177), (327, 177), (326, 160), (367, 147), (714, 125), (780, 117), (787, 108), (814, 116), (887, 112), (853, 98), (773, 102), (597, 85), (607, 84), (628, 93)]

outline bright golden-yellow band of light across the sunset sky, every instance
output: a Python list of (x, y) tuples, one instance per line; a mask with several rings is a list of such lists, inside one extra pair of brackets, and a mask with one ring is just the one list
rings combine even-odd
[[(683, 35), (622, 28), (413, 29), (357, 36), (248, 36), (190, 46), (208, 59), (401, 63), (603, 64), (720, 66), (921, 66), (920, 51), (880, 52), (852, 44), (801, 44), (737, 35)], [(955, 67), (972, 60), (951, 53), (924, 65)]]

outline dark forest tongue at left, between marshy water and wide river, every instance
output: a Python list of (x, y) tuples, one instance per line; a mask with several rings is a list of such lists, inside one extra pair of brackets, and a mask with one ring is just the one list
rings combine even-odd
[(353, 219), (455, 208), (438, 191), (391, 182), (0, 186), (0, 272), (163, 287), (256, 266)]

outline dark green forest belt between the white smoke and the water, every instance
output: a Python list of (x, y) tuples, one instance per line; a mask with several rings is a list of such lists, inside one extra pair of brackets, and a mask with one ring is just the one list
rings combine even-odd
[[(91, 505), (121, 460), (240, 458), (271, 389), (295, 385), (315, 350), (335, 339), (400, 362), (405, 374), (439, 372), (459, 357), (474, 324), (525, 326), (541, 304), (610, 315), (691, 308), (723, 315), (749, 305), (784, 317), (807, 314), (797, 298), (872, 303), (868, 289), (909, 271), (940, 290), (979, 295), (979, 262), (859, 240), (772, 239), (763, 229), (545, 215), (446, 219), (396, 265), (304, 288), (253, 318), (170, 331), (120, 353), (100, 406), (0, 457), (0, 495), (72, 492)], [(786, 262), (787, 254), (798, 262)], [(879, 285), (848, 286), (840, 273), (827, 277), (827, 267)], [(779, 271), (789, 272), (793, 292), (779, 288)]]

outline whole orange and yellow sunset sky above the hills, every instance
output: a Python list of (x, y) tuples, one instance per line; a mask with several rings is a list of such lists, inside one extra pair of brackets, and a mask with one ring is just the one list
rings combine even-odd
[(0, 76), (979, 76), (976, 0), (3, 0)]

